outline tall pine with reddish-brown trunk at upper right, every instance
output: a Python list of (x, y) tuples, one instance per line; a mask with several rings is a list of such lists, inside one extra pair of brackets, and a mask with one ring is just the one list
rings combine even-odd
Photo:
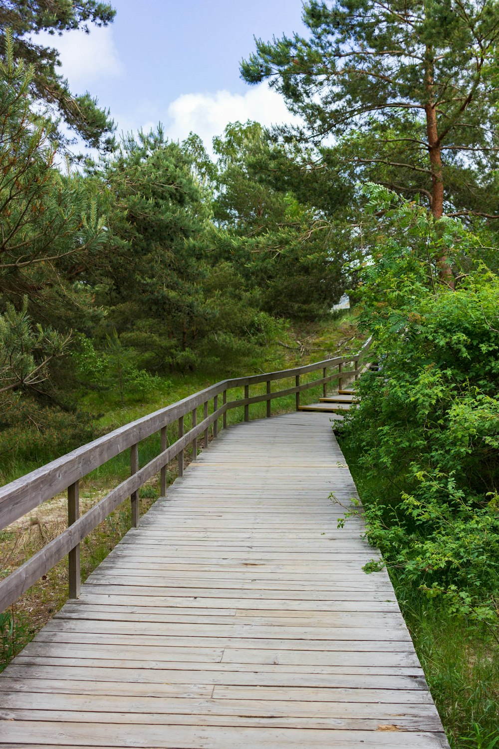
[(310, 37), (258, 40), (242, 76), (269, 79), (303, 118), (295, 136), (333, 136), (361, 179), (423, 195), (435, 218), (497, 218), (498, 18), (497, 0), (312, 0)]

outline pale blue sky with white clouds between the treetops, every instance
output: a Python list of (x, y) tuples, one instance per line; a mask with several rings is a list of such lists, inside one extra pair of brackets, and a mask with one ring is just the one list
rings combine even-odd
[(284, 100), (264, 82), (248, 86), (239, 61), (254, 37), (305, 33), (301, 0), (111, 0), (107, 28), (46, 34), (61, 55), (73, 94), (90, 91), (109, 108), (117, 132), (159, 121), (171, 139), (192, 130), (206, 148), (228, 122), (291, 121)]

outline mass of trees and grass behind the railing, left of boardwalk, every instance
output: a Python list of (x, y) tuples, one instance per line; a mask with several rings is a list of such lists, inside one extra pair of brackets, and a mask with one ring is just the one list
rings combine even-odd
[(172, 383), (183, 377), (194, 392), (198, 382), (286, 366), (293, 328), (331, 321), (350, 280), (343, 245), (331, 249), (313, 199), (288, 184), (293, 160), (259, 124), (227, 126), (215, 162), (197, 136), (168, 142), (159, 127), (123, 137), (84, 174), (69, 162), (62, 174), (55, 129), (34, 113), (36, 69), (15, 58), (7, 29), (4, 481), (97, 437), (108, 426), (102, 414), (175, 400)]

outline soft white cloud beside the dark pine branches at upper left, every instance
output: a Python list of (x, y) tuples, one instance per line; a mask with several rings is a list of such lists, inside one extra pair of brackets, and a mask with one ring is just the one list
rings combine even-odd
[(61, 37), (42, 31), (34, 41), (59, 50), (62, 67), (58, 73), (68, 79), (70, 89), (76, 93), (90, 88), (96, 79), (120, 76), (123, 72), (111, 27), (93, 28), (91, 34), (66, 31)]

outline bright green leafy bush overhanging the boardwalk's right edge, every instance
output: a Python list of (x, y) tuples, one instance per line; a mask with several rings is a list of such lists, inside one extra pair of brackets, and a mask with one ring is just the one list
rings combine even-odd
[[(361, 379), (346, 425), (377, 477), (367, 536), (402, 580), (488, 619), (499, 580), (499, 279), (472, 260), (480, 241), (459, 222), (434, 222), (381, 188), (374, 207), (385, 218), (364, 267), (361, 326), (380, 368)], [(443, 254), (455, 289), (438, 279)]]

